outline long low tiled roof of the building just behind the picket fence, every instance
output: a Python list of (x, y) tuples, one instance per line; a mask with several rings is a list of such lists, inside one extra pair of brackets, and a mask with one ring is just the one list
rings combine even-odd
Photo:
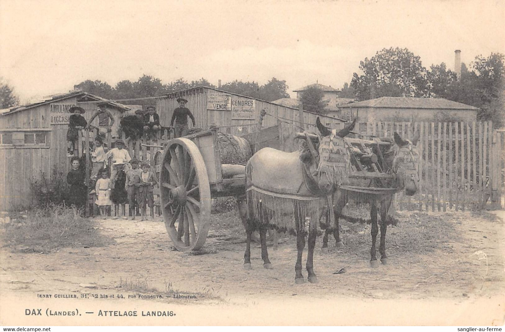
[(475, 110), (477, 107), (453, 102), (442, 98), (413, 97), (381, 97), (363, 102), (340, 105), (340, 108), (408, 108), (408, 109), (444, 109), (444, 110)]

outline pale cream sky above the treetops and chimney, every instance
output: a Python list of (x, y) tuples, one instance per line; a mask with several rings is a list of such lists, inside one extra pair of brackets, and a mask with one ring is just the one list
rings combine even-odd
[(143, 74), (318, 81), (340, 88), (360, 61), (408, 48), (425, 67), (505, 53), (501, 1), (0, 1), (0, 76), (22, 102), (85, 79)]

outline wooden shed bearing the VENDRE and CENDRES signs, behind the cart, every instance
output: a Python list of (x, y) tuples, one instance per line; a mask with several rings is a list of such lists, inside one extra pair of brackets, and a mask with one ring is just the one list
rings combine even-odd
[[(186, 107), (193, 113), (197, 128), (205, 130), (214, 125), (219, 127), (220, 131), (235, 135), (256, 131), (255, 126), (261, 110), (267, 112), (263, 120), (263, 128), (275, 126), (279, 122), (287, 122), (315, 130), (318, 116), (322, 118), (323, 123), (333, 128), (339, 128), (343, 123), (343, 120), (335, 117), (308, 111), (303, 111), (303, 119), (300, 119), (300, 112), (296, 108), (208, 86), (194, 87), (158, 97), (157, 110), (161, 125), (165, 127), (170, 125), (174, 109), (178, 107), (177, 98), (179, 97), (187, 99)], [(189, 127), (191, 126), (191, 121), (189, 121)]]

